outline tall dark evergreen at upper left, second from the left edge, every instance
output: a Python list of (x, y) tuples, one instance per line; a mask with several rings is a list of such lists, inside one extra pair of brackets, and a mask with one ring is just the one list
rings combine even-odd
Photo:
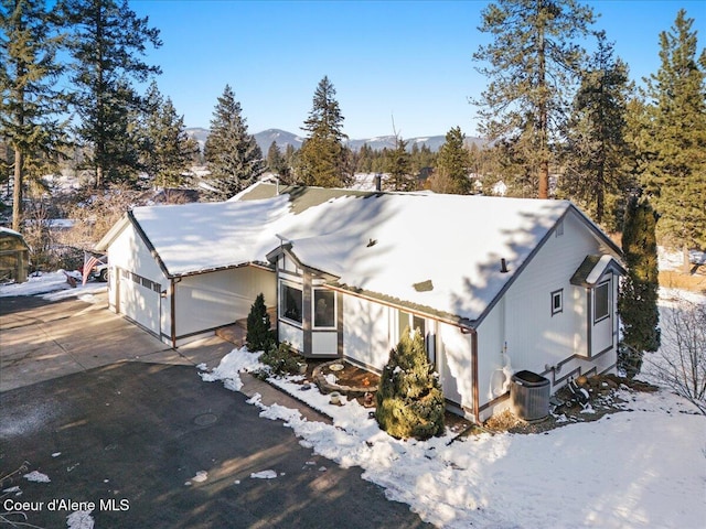
[(159, 30), (149, 28), (147, 17), (139, 19), (127, 0), (61, 0), (61, 6), (72, 31), (76, 132), (92, 148), (96, 187), (133, 180), (141, 99), (130, 80), (143, 83), (161, 73), (140, 58), (147, 44), (161, 46)]

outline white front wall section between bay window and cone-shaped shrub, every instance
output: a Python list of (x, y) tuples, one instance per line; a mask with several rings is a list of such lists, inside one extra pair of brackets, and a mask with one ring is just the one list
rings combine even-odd
[(389, 358), (391, 311), (388, 306), (343, 295), (343, 355), (382, 369)]

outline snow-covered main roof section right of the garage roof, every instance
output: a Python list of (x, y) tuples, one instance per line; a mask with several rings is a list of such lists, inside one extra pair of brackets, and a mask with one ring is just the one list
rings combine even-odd
[(342, 196), (278, 233), (301, 263), (336, 276), (338, 284), (473, 321), (570, 207), (486, 196)]

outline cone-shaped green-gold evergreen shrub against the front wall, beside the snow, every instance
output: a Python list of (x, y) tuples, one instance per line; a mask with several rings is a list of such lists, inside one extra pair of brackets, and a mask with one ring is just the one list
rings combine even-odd
[(375, 396), (375, 419), (397, 439), (426, 440), (443, 433), (443, 393), (419, 331), (403, 334), (389, 352)]

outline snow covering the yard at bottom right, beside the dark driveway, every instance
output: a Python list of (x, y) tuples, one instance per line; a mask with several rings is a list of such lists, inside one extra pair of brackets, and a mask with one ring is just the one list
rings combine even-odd
[[(232, 380), (247, 364), (234, 350), (214, 379)], [(234, 357), (245, 357), (240, 360)], [(385, 488), (391, 500), (445, 528), (700, 527), (706, 466), (706, 418), (671, 393), (623, 390), (625, 409), (595, 422), (545, 434), (482, 434), (451, 442), (398, 441), (381, 431), (356, 401), (331, 406), (319, 391), (270, 379), (334, 424), (299, 411), (249, 403), (261, 417), (285, 421), (301, 444)]]

